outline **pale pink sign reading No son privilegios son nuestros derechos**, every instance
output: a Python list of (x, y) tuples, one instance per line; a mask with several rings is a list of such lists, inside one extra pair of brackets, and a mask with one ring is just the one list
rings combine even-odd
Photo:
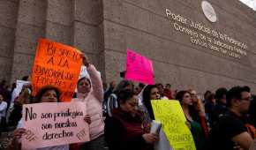
[(23, 105), (26, 133), (22, 149), (68, 145), (89, 140), (85, 102), (44, 102)]

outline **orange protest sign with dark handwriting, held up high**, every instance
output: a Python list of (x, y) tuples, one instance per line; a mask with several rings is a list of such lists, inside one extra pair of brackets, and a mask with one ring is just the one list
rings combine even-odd
[(40, 39), (32, 71), (32, 88), (35, 95), (41, 86), (56, 86), (61, 101), (71, 101), (81, 69), (81, 52), (70, 46)]

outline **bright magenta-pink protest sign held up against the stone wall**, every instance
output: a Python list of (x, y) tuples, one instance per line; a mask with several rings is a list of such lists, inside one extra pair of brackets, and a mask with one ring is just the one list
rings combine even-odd
[(131, 49), (127, 49), (125, 79), (153, 85), (154, 71), (150, 59), (140, 56)]

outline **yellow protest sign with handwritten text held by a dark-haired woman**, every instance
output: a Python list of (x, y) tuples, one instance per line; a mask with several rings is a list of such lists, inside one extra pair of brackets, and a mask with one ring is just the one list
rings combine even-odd
[(192, 133), (185, 124), (184, 112), (179, 101), (151, 101), (156, 121), (162, 123), (163, 131), (174, 150), (196, 150)]

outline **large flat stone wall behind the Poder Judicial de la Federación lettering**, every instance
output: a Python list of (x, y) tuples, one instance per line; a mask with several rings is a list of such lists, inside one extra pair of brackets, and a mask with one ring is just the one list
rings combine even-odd
[[(130, 48), (154, 61), (157, 82), (170, 82), (177, 88), (194, 86), (203, 92), (219, 86), (255, 85), (256, 76), (252, 73), (255, 70), (253, 65), (255, 55), (251, 56), (254, 51), (252, 37), (255, 33), (252, 31), (256, 31), (252, 26), (256, 22), (252, 19), (255, 13), (243, 4), (230, 0), (212, 1), (218, 21), (210, 23), (201, 11), (200, 2), (191, 0), (103, 1), (104, 46), (107, 51), (105, 54), (117, 57), (117, 60), (105, 59), (105, 65), (115, 64), (114, 62), (117, 61), (122, 64), (116, 65), (114, 70), (106, 68), (107, 80), (116, 77), (111, 72), (124, 70), (123, 58), (120, 56), (125, 56), (125, 50)], [(173, 23), (177, 21), (166, 18), (166, 8), (186, 19), (199, 22), (245, 42), (250, 46), (247, 49), (248, 56), (237, 59), (192, 44), (189, 35), (174, 29)], [(246, 25), (243, 26), (243, 24)]]

